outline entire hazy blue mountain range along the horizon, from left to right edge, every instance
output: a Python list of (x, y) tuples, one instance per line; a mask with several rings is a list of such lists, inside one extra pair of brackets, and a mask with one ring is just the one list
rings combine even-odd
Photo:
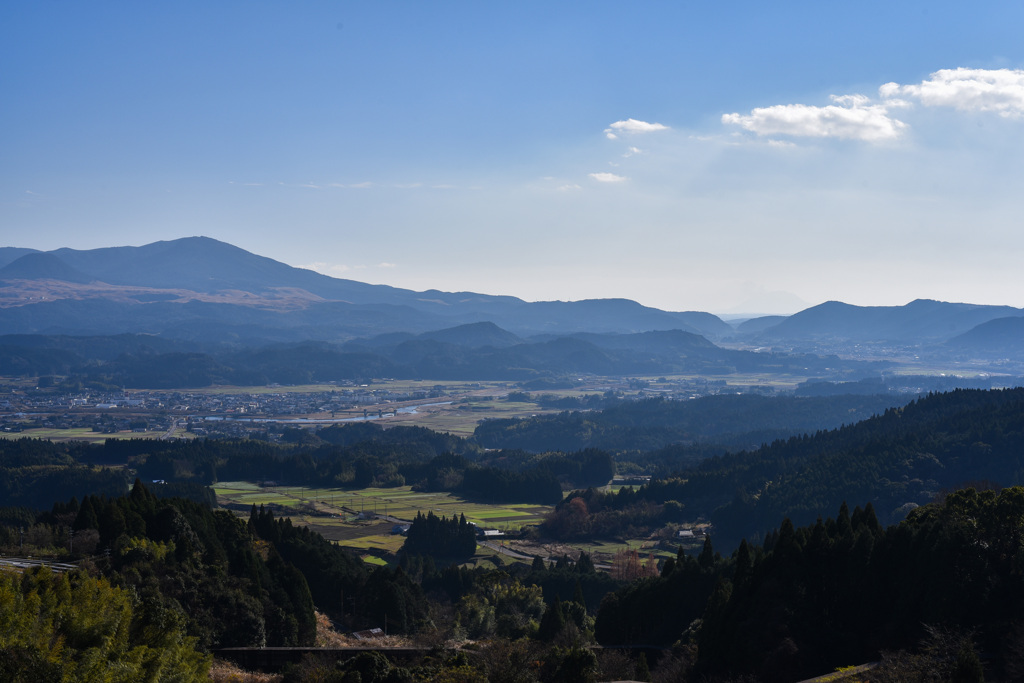
[[(473, 326), (482, 323), (493, 325)], [(730, 325), (707, 312), (665, 311), (627, 299), (526, 302), (368, 285), (202, 237), (92, 250), (0, 248), (0, 331), (145, 334), (236, 347), (349, 342), (410, 357), (427, 354), (430, 343), (507, 349), (566, 335), (614, 351), (616, 342), (607, 335), (624, 335), (617, 343), (632, 348), (639, 333), (679, 331), (702, 343), (802, 352), (894, 344), (963, 359), (1024, 359), (1024, 309), (1010, 306), (830, 301), (790, 316)], [(600, 336), (600, 343), (587, 335)], [(648, 337), (642, 343), (656, 347), (663, 341)]]

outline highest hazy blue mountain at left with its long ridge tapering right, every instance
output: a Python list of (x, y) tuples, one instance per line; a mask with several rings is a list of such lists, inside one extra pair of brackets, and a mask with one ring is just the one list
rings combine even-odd
[(2, 248), (0, 281), (0, 325), (17, 333), (146, 332), (204, 341), (226, 334), (271, 342), (344, 341), (479, 322), (518, 335), (678, 329), (719, 338), (732, 331), (710, 313), (667, 312), (625, 299), (528, 303), (367, 285), (209, 238), (88, 251)]

